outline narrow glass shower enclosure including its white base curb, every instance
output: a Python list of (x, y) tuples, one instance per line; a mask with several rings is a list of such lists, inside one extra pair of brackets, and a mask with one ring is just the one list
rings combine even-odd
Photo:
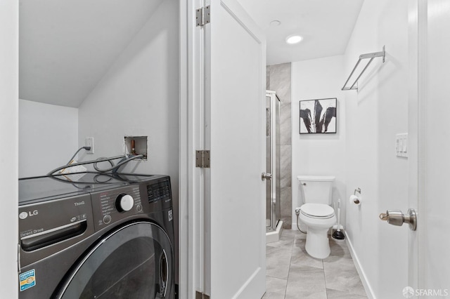
[(266, 239), (278, 241), (280, 222), (280, 99), (266, 91)]

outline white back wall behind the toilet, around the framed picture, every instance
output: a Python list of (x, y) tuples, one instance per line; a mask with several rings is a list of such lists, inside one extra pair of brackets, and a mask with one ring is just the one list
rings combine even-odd
[[(293, 230), (297, 230), (295, 208), (301, 206), (297, 175), (335, 175), (333, 202), (342, 199), (341, 224), (345, 227), (347, 201), (345, 172), (345, 93), (342, 55), (292, 64), (293, 122)], [(336, 134), (299, 134), (300, 100), (338, 98)]]

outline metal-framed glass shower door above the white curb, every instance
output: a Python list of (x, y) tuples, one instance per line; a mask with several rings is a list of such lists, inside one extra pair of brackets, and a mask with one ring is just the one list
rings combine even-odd
[[(276, 96), (275, 91), (266, 91), (266, 102), (270, 98), (270, 105), (269, 105), (269, 111), (270, 111), (270, 153), (268, 153), (268, 157), (270, 157), (270, 168), (266, 168), (266, 173), (271, 173), (272, 177), (270, 180), (266, 180), (266, 208), (270, 208), (270, 222), (269, 225), (266, 225), (266, 232), (272, 232), (276, 230), (276, 225), (278, 224), (278, 221), (280, 220), (281, 216), (281, 210), (280, 210), (280, 105), (281, 101)], [(278, 109), (277, 107), (278, 106)], [(267, 107), (267, 104), (266, 104)], [(277, 118), (278, 114), (278, 118)], [(267, 117), (266, 117), (267, 120)], [(276, 126), (278, 120), (278, 126)], [(278, 130), (278, 132), (277, 132)], [(267, 127), (266, 127), (266, 133), (267, 133)], [(275, 136), (275, 138), (274, 138)], [(267, 135), (266, 135), (267, 137)], [(278, 138), (278, 144), (277, 144), (277, 138)], [(267, 146), (266, 146), (267, 147)], [(278, 147), (278, 148), (277, 148)], [(278, 155), (278, 156), (277, 156)], [(278, 158), (277, 158), (278, 157)], [(277, 164), (278, 161), (278, 164)], [(266, 163), (267, 166), (267, 163)], [(278, 182), (278, 188), (277, 188), (277, 182)], [(270, 198), (269, 198), (270, 197)], [(267, 202), (269, 201), (269, 203)], [(267, 219), (267, 211), (266, 211), (266, 220)]]

